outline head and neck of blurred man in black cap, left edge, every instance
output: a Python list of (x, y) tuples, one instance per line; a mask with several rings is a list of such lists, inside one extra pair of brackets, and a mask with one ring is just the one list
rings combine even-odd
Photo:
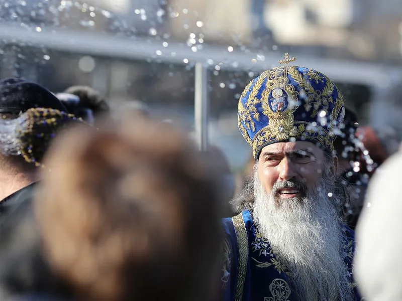
[[(28, 110), (38, 107), (67, 112), (63, 104), (50, 91), (36, 83), (18, 78), (0, 80), (0, 116), (2, 120), (17, 120)], [(14, 124), (17, 123), (18, 121)], [(24, 124), (28, 125), (27, 123)], [(22, 134), (22, 132), (19, 133)], [(11, 137), (17, 139), (19, 138), (17, 134), (14, 131), (11, 133)], [(7, 138), (3, 136), (6, 141), (8, 141)], [(32, 136), (32, 139), (35, 147), (34, 149), (25, 149), (25, 155), (30, 155), (32, 152), (43, 154), (48, 143), (44, 141), (43, 137)], [(27, 162), (27, 156), (24, 158), (22, 153), (24, 150), (22, 146), (29, 147), (25, 142), (21, 140), (10, 141), (10, 148), (20, 147), (17, 153), (0, 153), (0, 211), (2, 212), (0, 219), (4, 219), (4, 216), (11, 212), (14, 206), (18, 206), (30, 198), (35, 183), (39, 180), (37, 165), (42, 158), (37, 158), (37, 162), (32, 162), (32, 160)]]

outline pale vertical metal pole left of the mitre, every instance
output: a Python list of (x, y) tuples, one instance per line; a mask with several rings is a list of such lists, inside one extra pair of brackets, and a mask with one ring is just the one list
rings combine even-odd
[(208, 69), (202, 63), (195, 64), (194, 121), (195, 138), (200, 150), (208, 146)]

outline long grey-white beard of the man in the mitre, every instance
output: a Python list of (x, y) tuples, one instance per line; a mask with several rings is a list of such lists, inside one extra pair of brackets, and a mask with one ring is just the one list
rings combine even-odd
[[(334, 185), (328, 183), (331, 179), (327, 170), (306, 197), (277, 200), (265, 192), (257, 171), (254, 175), (253, 216), (257, 229), (292, 274), (300, 299), (309, 301), (353, 299), (337, 212), (340, 199), (332, 190)], [(332, 197), (328, 197), (329, 192)]]

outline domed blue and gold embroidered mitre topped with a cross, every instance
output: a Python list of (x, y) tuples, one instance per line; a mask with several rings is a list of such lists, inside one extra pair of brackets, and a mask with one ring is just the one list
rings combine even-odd
[(304, 140), (332, 152), (334, 129), (342, 122), (342, 94), (321, 72), (290, 66), (263, 72), (244, 89), (239, 99), (239, 129), (253, 147), (255, 160), (261, 149), (280, 141)]

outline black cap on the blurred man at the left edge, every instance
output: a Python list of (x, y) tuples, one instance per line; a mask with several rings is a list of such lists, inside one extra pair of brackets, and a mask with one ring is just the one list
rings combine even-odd
[(20, 78), (0, 80), (0, 113), (18, 114), (31, 108), (67, 112), (61, 101), (44, 87)]

